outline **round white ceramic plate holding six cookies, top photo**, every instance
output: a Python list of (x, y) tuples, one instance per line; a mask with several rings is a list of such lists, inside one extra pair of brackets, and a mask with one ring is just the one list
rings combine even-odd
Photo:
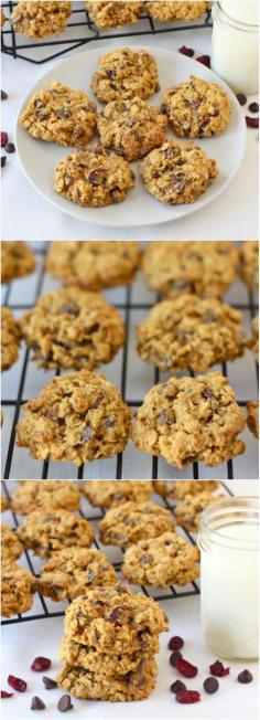
[[(140, 46), (131, 45), (131, 49), (140, 50)], [(24, 99), (20, 113), (28, 105), (32, 94), (46, 87), (53, 81), (59, 81), (75, 89), (86, 91), (95, 99), (90, 91), (91, 76), (97, 68), (100, 55), (104, 55), (105, 52), (109, 52), (110, 50), (112, 50), (112, 46), (106, 46), (106, 51), (101, 49), (88, 50), (56, 65), (54, 70), (43, 75), (39, 83), (34, 85), (30, 95)], [(18, 120), (17, 151), (28, 179), (48, 202), (69, 215), (85, 222), (115, 227), (130, 227), (137, 225), (154, 225), (177, 220), (195, 210), (199, 210), (224, 192), (235, 177), (242, 160), (246, 145), (246, 123), (239, 103), (229, 87), (210, 70), (181, 53), (158, 47), (148, 47), (147, 50), (154, 55), (159, 65), (161, 91), (149, 99), (153, 105), (160, 105), (162, 92), (175, 83), (186, 81), (191, 74), (207, 81), (217, 82), (219, 85), (223, 85), (229, 95), (232, 102), (232, 113), (226, 131), (219, 137), (199, 140), (198, 142), (205, 149), (208, 157), (217, 161), (220, 171), (219, 178), (215, 180), (210, 188), (195, 203), (173, 207), (152, 198), (144, 190), (138, 172), (136, 172), (136, 187), (133, 190), (130, 190), (127, 199), (122, 203), (98, 209), (80, 208), (62, 195), (58, 195), (53, 190), (54, 169), (57, 162), (69, 153), (69, 148), (57, 146), (54, 142), (33, 139), (20, 126)], [(169, 138), (174, 139), (171, 130), (169, 130), (167, 135)], [(133, 170), (137, 169), (137, 165), (132, 163)]]

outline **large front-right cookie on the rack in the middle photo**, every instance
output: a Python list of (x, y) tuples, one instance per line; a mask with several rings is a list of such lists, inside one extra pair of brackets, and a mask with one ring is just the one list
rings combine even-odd
[(140, 449), (180, 469), (196, 462), (215, 467), (245, 452), (238, 438), (245, 424), (243, 412), (220, 372), (171, 378), (145, 395), (133, 421), (132, 440)]

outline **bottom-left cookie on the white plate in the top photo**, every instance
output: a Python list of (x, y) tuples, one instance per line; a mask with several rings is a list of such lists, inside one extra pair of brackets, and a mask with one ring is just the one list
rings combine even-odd
[(59, 160), (54, 172), (54, 190), (83, 208), (105, 208), (126, 200), (134, 186), (127, 160), (107, 152), (100, 145), (74, 150)]

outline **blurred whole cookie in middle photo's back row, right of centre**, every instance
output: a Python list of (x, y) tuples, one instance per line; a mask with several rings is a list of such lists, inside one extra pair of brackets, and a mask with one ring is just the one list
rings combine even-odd
[(142, 261), (150, 289), (173, 299), (187, 293), (220, 298), (236, 279), (237, 266), (238, 250), (229, 241), (159, 241)]

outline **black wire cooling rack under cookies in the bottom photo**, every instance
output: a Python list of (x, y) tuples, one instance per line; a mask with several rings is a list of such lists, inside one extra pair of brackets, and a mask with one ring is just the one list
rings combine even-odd
[[(109, 480), (107, 480), (107, 481), (109, 483)], [(11, 499), (11, 493), (10, 493), (10, 486), (11, 485), (12, 485), (11, 480), (9, 483), (6, 483), (4, 480), (2, 481), (2, 491), (3, 491), (3, 494), (6, 495), (6, 497), (9, 500)], [(226, 495), (230, 495), (230, 496), (232, 495), (231, 490), (225, 485), (225, 483), (221, 483), (220, 490), (221, 490), (221, 494), (223, 494), (223, 490), (224, 490), (224, 493)], [(176, 502), (169, 501), (165, 498), (164, 499), (160, 498), (160, 500), (161, 500), (161, 504), (164, 507), (166, 507), (172, 512), (172, 515), (174, 516), (174, 509), (176, 507)], [(90, 508), (90, 506), (88, 504), (86, 504), (86, 510), (80, 509), (80, 515), (86, 520), (94, 523), (94, 537), (95, 537), (94, 544), (97, 548), (97, 550), (105, 550), (105, 552), (107, 554), (107, 548), (104, 549), (104, 548), (100, 547), (99, 541), (97, 539), (98, 533), (96, 531), (96, 522), (101, 520), (105, 512), (101, 509), (96, 512), (96, 508), (95, 508), (95, 515), (93, 515), (93, 513), (90, 513), (88, 511), (89, 508)], [(12, 515), (12, 519), (13, 519), (13, 529), (17, 529), (19, 527), (19, 525), (20, 525), (18, 516), (17, 516), (15, 512), (13, 512), (13, 510), (11, 510), (11, 515)], [(187, 540), (192, 544), (196, 544), (195, 536), (193, 536), (187, 530), (184, 530), (184, 529), (181, 529), (181, 528), (177, 528), (177, 530), (178, 530), (180, 534), (183, 534), (185, 540)], [(117, 548), (117, 550), (118, 550), (118, 548)], [(35, 561), (37, 559), (35, 558), (35, 555), (33, 555), (33, 553), (28, 552), (26, 550), (24, 551), (24, 554), (25, 554), (25, 558), (26, 558), (28, 569), (31, 571), (31, 573), (33, 575), (35, 575), (37, 578), (39, 572), (35, 569)], [(123, 576), (120, 576), (120, 570), (121, 570), (122, 557), (123, 557), (122, 551), (120, 551), (120, 555), (121, 555), (120, 561), (119, 562), (112, 562), (111, 561), (111, 564), (113, 565), (116, 572), (119, 575), (118, 579), (126, 582)], [(144, 585), (141, 585), (140, 587), (136, 586), (136, 589), (141, 590), (144, 593), (144, 595), (147, 595), (147, 597), (153, 597), (154, 600), (161, 601), (161, 602), (162, 601), (170, 601), (170, 600), (177, 600), (180, 597), (188, 597), (188, 596), (199, 594), (199, 585), (195, 581), (188, 583), (188, 585), (186, 585), (185, 587), (177, 587), (176, 589), (174, 585), (171, 585), (170, 587), (166, 589), (166, 591), (163, 591), (163, 592), (160, 592), (160, 593), (158, 593), (158, 592), (154, 593), (154, 592), (152, 592), (151, 587), (147, 587)], [(53, 603), (53, 602), (50, 603), (48, 599), (43, 597), (39, 592), (36, 594), (39, 596), (41, 612), (34, 612), (33, 608), (32, 608), (30, 611), (30, 613), (26, 613), (25, 615), (15, 615), (14, 617), (3, 620), (1, 622), (1, 624), (2, 625), (13, 625), (15, 623), (25, 623), (25, 622), (32, 621), (32, 620), (44, 620), (46, 617), (62, 617), (64, 615), (68, 602), (63, 603), (63, 605), (64, 605), (63, 610), (56, 611), (56, 610), (54, 610), (54, 607), (55, 607), (55, 604), (57, 605), (58, 603)]]

